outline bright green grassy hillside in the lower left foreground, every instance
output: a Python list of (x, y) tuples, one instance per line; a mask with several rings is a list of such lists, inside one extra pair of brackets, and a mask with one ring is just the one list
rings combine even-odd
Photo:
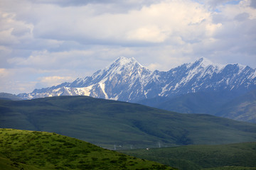
[(0, 169), (172, 169), (50, 132), (0, 129)]

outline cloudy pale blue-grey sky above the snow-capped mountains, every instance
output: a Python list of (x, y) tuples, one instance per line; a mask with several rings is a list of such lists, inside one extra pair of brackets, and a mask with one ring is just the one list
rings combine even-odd
[(90, 76), (117, 57), (167, 71), (206, 57), (256, 68), (250, 0), (0, 0), (0, 92)]

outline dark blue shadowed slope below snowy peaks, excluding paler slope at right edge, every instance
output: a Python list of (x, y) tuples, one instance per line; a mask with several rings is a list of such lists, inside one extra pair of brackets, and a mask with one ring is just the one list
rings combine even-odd
[(240, 96), (234, 91), (197, 92), (174, 96), (172, 98), (156, 97), (144, 99), (138, 103), (166, 111), (178, 113), (207, 113), (214, 114), (223, 104)]

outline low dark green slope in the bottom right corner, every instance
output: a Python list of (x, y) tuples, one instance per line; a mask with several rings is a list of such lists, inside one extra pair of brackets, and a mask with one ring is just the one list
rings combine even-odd
[(256, 169), (256, 142), (121, 151), (178, 169)]

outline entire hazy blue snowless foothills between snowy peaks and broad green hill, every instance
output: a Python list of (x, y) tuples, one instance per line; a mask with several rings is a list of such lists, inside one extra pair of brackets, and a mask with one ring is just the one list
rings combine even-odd
[(246, 94), (214, 91), (183, 94), (173, 98), (156, 97), (138, 103), (178, 113), (205, 113), (256, 123), (256, 91)]

